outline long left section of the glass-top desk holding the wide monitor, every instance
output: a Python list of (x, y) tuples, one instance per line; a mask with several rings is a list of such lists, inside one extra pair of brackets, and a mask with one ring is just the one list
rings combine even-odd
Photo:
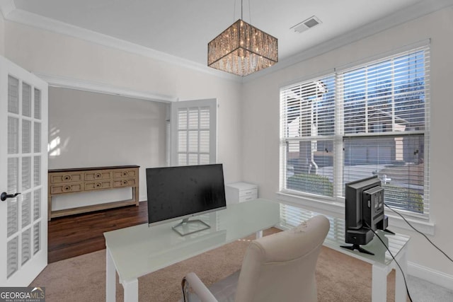
[(104, 233), (106, 301), (116, 298), (115, 271), (124, 288), (125, 301), (138, 301), (138, 277), (275, 226), (280, 223), (280, 204), (256, 199), (229, 204), (226, 209), (196, 219), (211, 228), (183, 237), (171, 228), (178, 221), (171, 221), (150, 228), (144, 223)]

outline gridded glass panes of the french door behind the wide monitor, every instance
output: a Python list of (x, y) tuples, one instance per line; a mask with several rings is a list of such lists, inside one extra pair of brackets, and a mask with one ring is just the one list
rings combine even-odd
[(210, 108), (178, 109), (178, 165), (210, 163)]

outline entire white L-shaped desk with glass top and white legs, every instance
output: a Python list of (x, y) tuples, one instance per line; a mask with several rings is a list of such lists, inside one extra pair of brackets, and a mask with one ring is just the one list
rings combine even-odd
[[(302, 221), (315, 215), (317, 213), (312, 211), (301, 209), (300, 212)], [(386, 301), (387, 274), (395, 268), (395, 301), (406, 302), (403, 275), (395, 267), (395, 262), (379, 238), (374, 236), (370, 243), (362, 245), (362, 248), (374, 252), (374, 255), (340, 248), (340, 245), (348, 245), (345, 243), (345, 221), (327, 217), (331, 228), (324, 245), (372, 265), (372, 301)], [(151, 228), (145, 223), (104, 233), (107, 256), (106, 301), (115, 301), (116, 298), (115, 271), (124, 288), (125, 301), (138, 301), (138, 277), (277, 225), (280, 223), (280, 204), (266, 199), (256, 199), (229, 204), (227, 209), (196, 218), (206, 221), (211, 228), (182, 237), (171, 228), (178, 221), (172, 221)], [(382, 231), (377, 233), (389, 246), (406, 274), (406, 250), (410, 237), (401, 234), (391, 235)]]

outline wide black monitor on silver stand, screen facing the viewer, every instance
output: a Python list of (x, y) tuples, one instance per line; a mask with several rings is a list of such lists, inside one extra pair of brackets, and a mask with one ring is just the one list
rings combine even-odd
[[(173, 230), (185, 236), (210, 228), (204, 221), (190, 217), (226, 208), (220, 163), (147, 168), (146, 172), (149, 226), (183, 219)], [(188, 223), (192, 223), (190, 232), (182, 228)]]

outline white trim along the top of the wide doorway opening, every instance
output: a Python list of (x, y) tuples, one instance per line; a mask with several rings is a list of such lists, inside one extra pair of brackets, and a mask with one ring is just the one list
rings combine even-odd
[(138, 98), (140, 100), (152, 100), (154, 102), (171, 103), (178, 101), (178, 98), (171, 95), (160, 95), (147, 91), (134, 91), (128, 88), (121, 88), (105, 83), (96, 83), (93, 81), (84, 81), (72, 79), (64, 76), (55, 76), (49, 74), (37, 74), (40, 79), (49, 83), (49, 86), (57, 88), (69, 88), (94, 93), (106, 93), (111, 95), (121, 95), (126, 98)]

